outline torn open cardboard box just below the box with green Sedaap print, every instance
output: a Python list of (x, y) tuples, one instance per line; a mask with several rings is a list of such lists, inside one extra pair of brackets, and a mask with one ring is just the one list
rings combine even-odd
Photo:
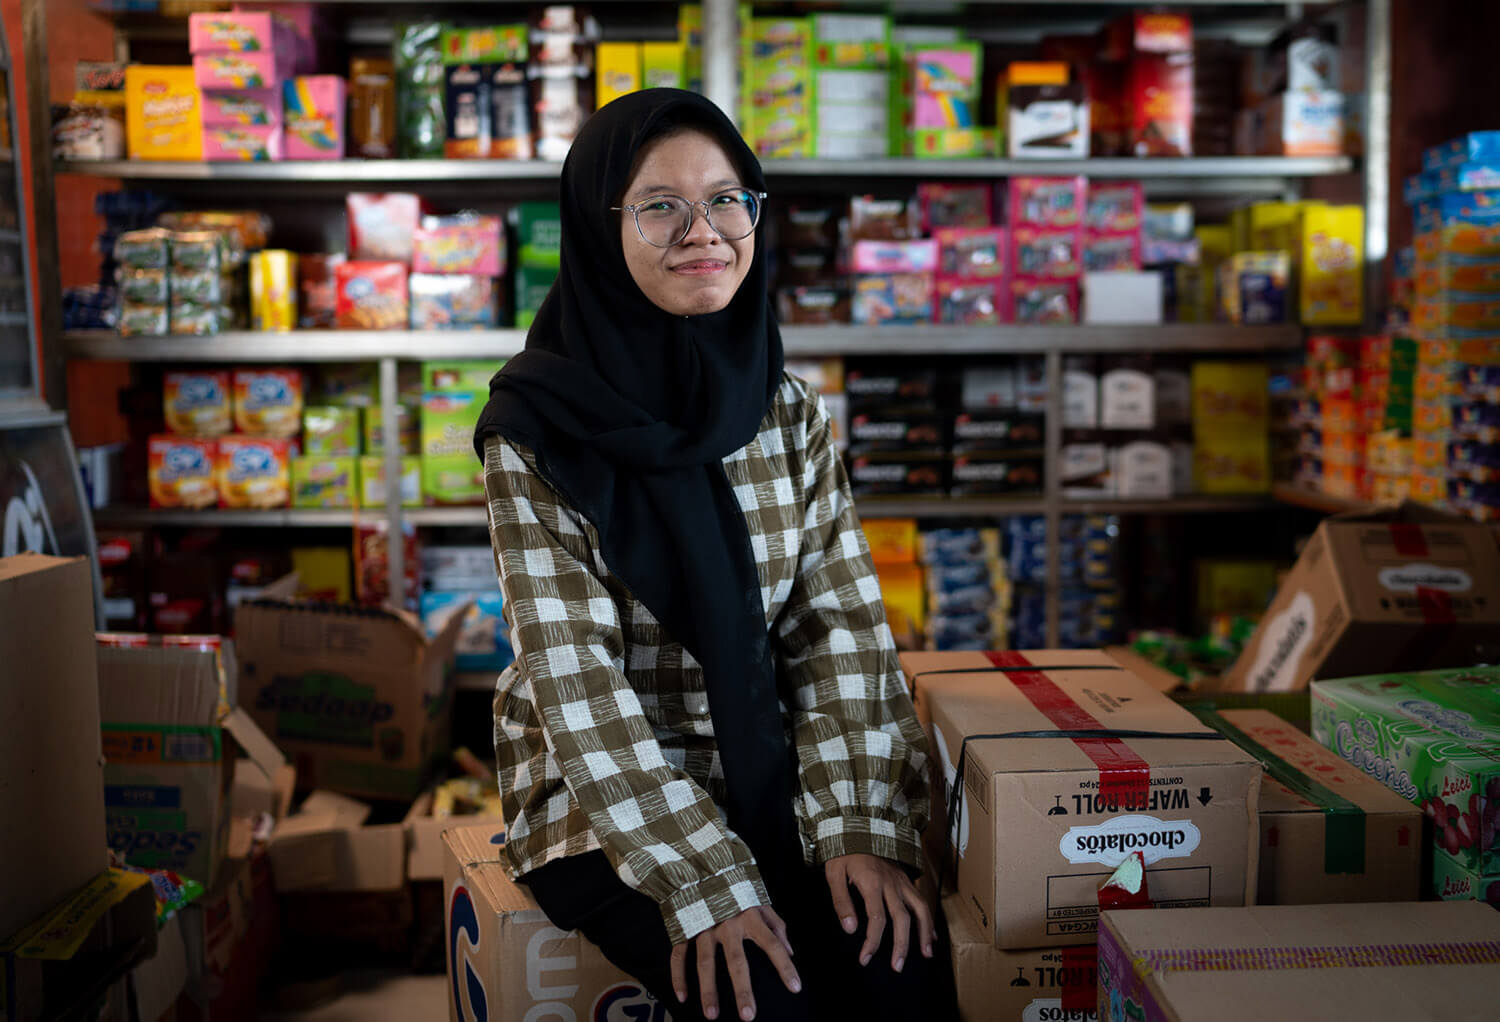
[(272, 833), (276, 890), (390, 891), (406, 882), (405, 824), (366, 825), (370, 807), (315, 791)]

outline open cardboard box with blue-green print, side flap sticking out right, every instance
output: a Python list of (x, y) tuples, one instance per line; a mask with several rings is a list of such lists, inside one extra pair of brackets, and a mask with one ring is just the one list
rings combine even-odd
[(132, 866), (212, 887), (230, 843), (236, 749), (268, 780), (285, 759), (243, 710), (230, 708), (232, 657), (218, 639), (100, 642), (98, 659), (110, 846)]

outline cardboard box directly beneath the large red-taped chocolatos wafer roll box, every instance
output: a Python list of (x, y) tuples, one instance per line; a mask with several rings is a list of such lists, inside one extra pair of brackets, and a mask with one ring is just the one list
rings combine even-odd
[(974, 924), (957, 894), (944, 899), (942, 911), (960, 1022), (1098, 1022), (1095, 948), (1000, 951)]

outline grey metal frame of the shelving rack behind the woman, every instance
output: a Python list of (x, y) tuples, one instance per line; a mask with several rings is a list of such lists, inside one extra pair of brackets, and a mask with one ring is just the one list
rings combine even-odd
[[(392, 6), (399, 0), (324, 0), (333, 5)], [(452, 5), (477, 6), (492, 0), (446, 0)], [(1299, 20), (1305, 8), (1324, 8), (1336, 0), (1180, 0), (1180, 6), (1194, 9), (1244, 9), (1263, 12), (1282, 23)], [(916, 177), (1000, 177), (1016, 173), (1066, 173), (1095, 177), (1142, 179), (1154, 192), (1166, 191), (1176, 195), (1296, 195), (1300, 182), (1310, 177), (1346, 174), (1358, 170), (1362, 176), (1365, 203), (1365, 251), (1370, 287), (1366, 306), (1374, 308), (1376, 296), (1384, 273), (1388, 249), (1389, 210), (1389, 111), (1390, 111), (1390, 0), (1362, 0), (1366, 21), (1366, 155), (1358, 164), (1348, 158), (1188, 158), (1188, 159), (1088, 159), (1088, 161), (766, 161), (768, 177), (804, 183), (834, 179), (854, 188), (861, 182), (880, 182)], [(22, 0), (22, 24), (26, 26), (26, 71), (28, 95), (45, 96), (46, 74), (46, 24), (45, 0)], [(408, 6), (411, 6), (408, 3)], [(435, 5), (434, 5), (435, 6)], [(495, 3), (494, 6), (504, 6)], [(849, 5), (864, 6), (864, 5)], [(1058, 17), (1072, 14), (1080, 8), (1128, 8), (1140, 6), (1137, 0), (970, 0), (978, 8), (1059, 8)], [(1065, 11), (1062, 11), (1065, 9)], [(736, 60), (738, 60), (738, 11), (735, 0), (704, 0), (704, 87), (705, 93), (730, 114), (736, 110)], [(33, 140), (45, 140), (45, 104), (42, 113), (34, 113)], [(546, 183), (556, 179), (558, 164), (526, 162), (462, 162), (462, 161), (339, 161), (339, 162), (286, 162), (286, 164), (138, 164), (120, 161), (112, 164), (60, 164), (52, 165), (45, 155), (45, 141), (33, 143), (33, 195), (39, 206), (50, 204), (54, 195), (56, 173), (92, 174), (118, 177), (123, 180), (160, 182), (183, 188), (202, 188), (214, 182), (254, 183), (267, 194), (294, 183), (322, 182), (328, 185), (370, 185), (384, 182), (410, 183), (462, 183), (462, 182), (531, 182)], [(40, 153), (40, 155), (38, 155)], [(876, 185), (878, 186), (878, 185)], [(45, 209), (45, 206), (42, 206)], [(39, 252), (56, 263), (57, 221), (56, 216), (38, 216)], [(48, 255), (51, 254), (51, 255)], [(484, 330), (474, 333), (438, 332), (294, 332), (290, 335), (228, 333), (213, 339), (198, 338), (152, 338), (122, 339), (114, 335), (84, 332), (63, 335), (60, 330), (60, 296), (44, 290), (39, 320), (42, 324), (44, 366), (48, 378), (60, 378), (60, 366), (66, 359), (116, 359), (129, 362), (324, 362), (358, 360), (376, 362), (382, 383), (382, 426), (386, 435), (396, 435), (396, 365), (402, 359), (502, 359), (524, 344), (519, 330)], [(1371, 315), (1372, 318), (1372, 315)], [(915, 516), (994, 516), (1008, 513), (1042, 513), (1047, 518), (1047, 620), (1048, 642), (1058, 639), (1058, 537), (1065, 513), (1116, 512), (1116, 513), (1215, 513), (1254, 512), (1275, 506), (1269, 498), (1176, 498), (1160, 503), (1143, 501), (1066, 501), (1060, 494), (1060, 480), (1054, 471), (1062, 446), (1062, 356), (1065, 353), (1110, 353), (1110, 351), (1198, 351), (1198, 353), (1251, 353), (1293, 350), (1300, 344), (1300, 327), (1226, 327), (1218, 324), (1166, 327), (1018, 327), (998, 329), (930, 329), (868, 330), (861, 327), (795, 329), (783, 332), (788, 354), (880, 354), (880, 356), (932, 356), (932, 354), (1042, 354), (1052, 381), (1047, 416), (1047, 482), (1046, 492), (1038, 500), (1017, 501), (861, 501), (868, 515), (915, 515)], [(912, 344), (914, 338), (920, 344)], [(212, 348), (208, 347), (212, 344)], [(346, 345), (346, 347), (345, 347)], [(57, 390), (50, 389), (54, 401), (62, 401)], [(483, 509), (402, 509), (399, 504), (399, 449), (387, 444), (387, 501), (380, 515), (387, 521), (392, 536), (400, 533), (404, 522), (416, 525), (482, 525)], [(255, 518), (249, 518), (249, 515)], [(346, 525), (354, 521), (350, 512), (206, 512), (186, 515), (166, 512), (100, 512), (98, 519), (105, 524), (159, 524), (159, 525)], [(400, 591), (402, 543), (390, 543), (390, 591)]]

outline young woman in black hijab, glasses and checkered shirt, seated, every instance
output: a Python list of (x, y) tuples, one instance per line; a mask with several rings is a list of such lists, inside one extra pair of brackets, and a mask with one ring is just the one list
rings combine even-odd
[(474, 437), (506, 855), (674, 1019), (938, 1017), (927, 743), (828, 413), (783, 372), (764, 192), (668, 89), (562, 167), (561, 273)]

